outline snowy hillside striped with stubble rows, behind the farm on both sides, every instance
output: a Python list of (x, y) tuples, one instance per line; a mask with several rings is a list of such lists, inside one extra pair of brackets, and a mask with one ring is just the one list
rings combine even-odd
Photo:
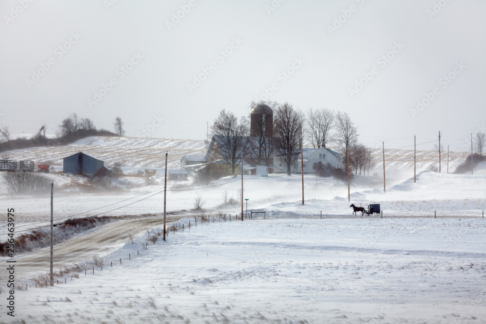
[[(332, 148), (337, 150), (337, 148)], [(180, 166), (182, 156), (205, 155), (208, 144), (204, 140), (182, 140), (149, 137), (104, 137), (90, 136), (67, 146), (37, 147), (7, 151), (3, 158), (13, 160), (33, 160), (35, 164), (49, 163), (62, 166), (62, 159), (77, 152), (84, 152), (99, 158), (106, 166), (121, 162), (124, 167), (163, 168), (165, 152), (169, 152), (170, 169)], [(375, 173), (382, 172), (382, 150), (372, 149), (377, 162)], [(469, 153), (450, 152), (449, 171), (453, 172)], [(442, 171), (447, 170), (447, 152), (442, 152)], [(427, 170), (431, 165), (438, 167), (439, 153), (435, 151), (417, 151), (417, 171)], [(387, 169), (410, 169), (414, 167), (414, 150), (385, 149), (385, 166)], [(372, 172), (370, 171), (370, 174)]]

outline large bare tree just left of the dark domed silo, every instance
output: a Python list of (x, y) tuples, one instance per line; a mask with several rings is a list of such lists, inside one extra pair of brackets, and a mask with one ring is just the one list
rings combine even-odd
[(231, 174), (234, 174), (235, 166), (246, 157), (249, 151), (248, 129), (244, 118), (238, 121), (235, 114), (223, 109), (214, 120), (211, 132), (218, 143), (219, 150), (213, 154), (221, 155), (223, 161), (231, 166)]

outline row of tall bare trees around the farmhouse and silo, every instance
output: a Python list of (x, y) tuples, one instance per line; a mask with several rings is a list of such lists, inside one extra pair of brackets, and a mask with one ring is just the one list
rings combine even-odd
[[(303, 111), (288, 102), (268, 101), (251, 102), (249, 108), (259, 105), (267, 105), (272, 110), (271, 125), (264, 119), (257, 119), (250, 129), (251, 114), (237, 118), (223, 109), (210, 128), (211, 137), (218, 136), (218, 157), (231, 166), (232, 173), (242, 160), (269, 166), (276, 156), (290, 175), (302, 147), (319, 149), (326, 144), (339, 147), (345, 166), (349, 155), (350, 172), (361, 174), (375, 166), (371, 149), (358, 143), (357, 126), (346, 112), (325, 108)], [(272, 132), (268, 131), (269, 127)]]

